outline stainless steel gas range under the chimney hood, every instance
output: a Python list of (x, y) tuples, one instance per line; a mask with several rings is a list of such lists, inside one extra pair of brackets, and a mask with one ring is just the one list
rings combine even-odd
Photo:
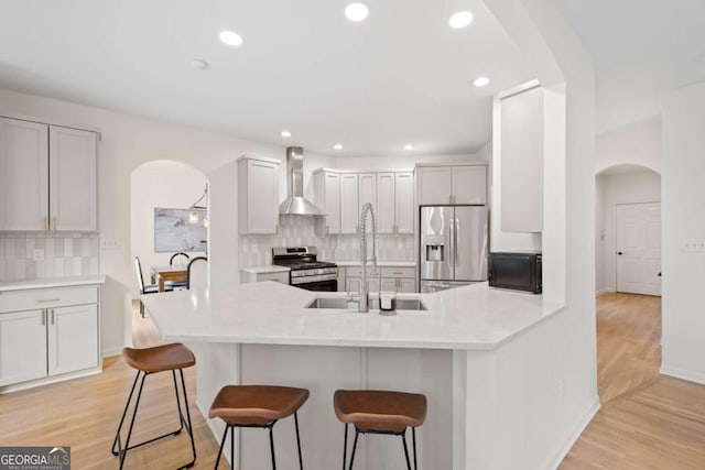
[(338, 289), (338, 266), (318, 261), (316, 247), (274, 247), (272, 264), (291, 269), (289, 283), (307, 291), (336, 292)]

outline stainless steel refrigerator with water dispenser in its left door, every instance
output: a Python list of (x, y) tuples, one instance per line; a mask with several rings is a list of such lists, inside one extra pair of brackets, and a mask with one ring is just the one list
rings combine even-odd
[(421, 292), (487, 281), (485, 206), (423, 206), (420, 225)]

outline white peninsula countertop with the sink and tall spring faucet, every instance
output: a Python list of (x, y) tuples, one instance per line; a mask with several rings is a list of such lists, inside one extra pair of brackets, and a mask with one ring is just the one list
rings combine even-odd
[(426, 311), (304, 308), (316, 293), (261, 282), (142, 296), (160, 334), (167, 341), (263, 345), (352, 346), (423, 349), (494, 349), (563, 309), (542, 296), (474, 284), (420, 297)]

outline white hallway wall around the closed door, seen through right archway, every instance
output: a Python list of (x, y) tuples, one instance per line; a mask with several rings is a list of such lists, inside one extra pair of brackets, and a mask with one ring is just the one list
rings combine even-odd
[[(596, 272), (597, 293), (615, 292), (615, 215), (618, 204), (661, 201), (661, 175), (651, 170), (596, 177)], [(604, 234), (605, 239), (601, 239)]]

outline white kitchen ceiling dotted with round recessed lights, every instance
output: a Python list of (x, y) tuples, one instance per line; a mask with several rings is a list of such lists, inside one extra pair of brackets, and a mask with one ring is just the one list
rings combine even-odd
[(492, 95), (533, 77), (484, 3), (364, 1), (354, 23), (348, 0), (0, 0), (0, 88), (328, 155), (486, 144)]

